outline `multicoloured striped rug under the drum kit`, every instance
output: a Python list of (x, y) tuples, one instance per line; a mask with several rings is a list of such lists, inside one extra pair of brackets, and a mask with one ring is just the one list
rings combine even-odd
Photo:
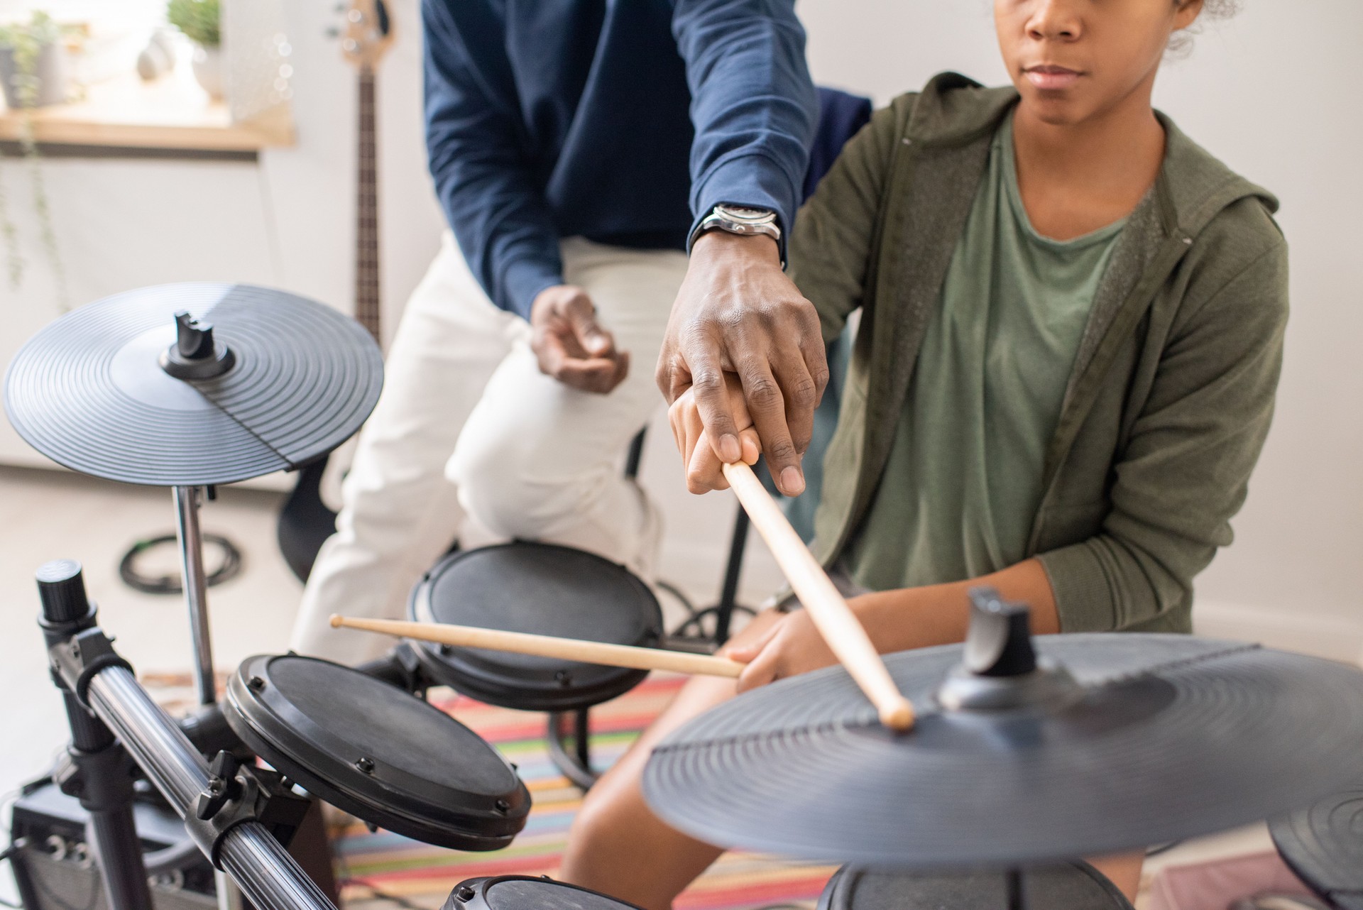
[[(592, 710), (592, 757), (605, 767), (634, 741), (682, 685), (683, 677), (653, 674), (627, 695)], [(463, 696), (433, 699), (514, 762), (534, 801), (517, 839), (495, 853), (457, 853), (388, 831), (371, 834), (354, 824), (337, 832), (338, 875), (348, 905), (368, 905), (375, 892), (420, 907), (439, 907), (458, 881), (485, 875), (555, 876), (568, 824), (582, 802), (549, 762), (545, 715), (511, 711)], [(833, 868), (799, 865), (774, 857), (724, 854), (676, 902), (675, 910), (758, 910), (814, 907)]]

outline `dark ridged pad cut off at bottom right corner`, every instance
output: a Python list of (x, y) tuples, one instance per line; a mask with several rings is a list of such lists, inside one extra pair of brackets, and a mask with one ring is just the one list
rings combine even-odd
[(1273, 819), (1269, 832), (1302, 881), (1337, 907), (1363, 910), (1363, 778)]

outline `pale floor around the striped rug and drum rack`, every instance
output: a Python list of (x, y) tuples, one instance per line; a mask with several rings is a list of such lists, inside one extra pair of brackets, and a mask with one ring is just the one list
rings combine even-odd
[[(244, 658), (286, 650), (301, 593), (274, 542), (279, 493), (225, 489), (204, 504), (207, 533), (243, 552), (243, 572), (210, 589), (213, 648), (221, 672)], [(139, 673), (183, 673), (189, 633), (180, 597), (142, 594), (119, 578), (123, 553), (138, 539), (174, 530), (169, 490), (125, 486), (68, 473), (0, 467), (0, 794), (50, 766), (65, 740), (65, 721), (48, 680), (33, 574), (44, 561), (70, 557), (85, 565), (101, 624)], [(174, 569), (166, 548), (150, 567)], [(716, 576), (718, 567), (716, 567)], [(4, 802), (7, 802), (7, 797)], [(5, 812), (5, 816), (8, 813)], [(1152, 861), (1159, 868), (1268, 845), (1262, 826), (1183, 845)], [(14, 899), (8, 870), (0, 896)]]

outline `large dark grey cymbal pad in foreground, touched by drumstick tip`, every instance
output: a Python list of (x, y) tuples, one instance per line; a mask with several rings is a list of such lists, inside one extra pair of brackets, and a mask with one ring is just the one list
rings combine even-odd
[(721, 846), (901, 869), (1002, 868), (1220, 831), (1363, 775), (1363, 673), (1179, 635), (1056, 635), (1079, 697), (949, 711), (960, 646), (886, 658), (894, 734), (841, 668), (714, 708), (649, 759), (645, 797)]

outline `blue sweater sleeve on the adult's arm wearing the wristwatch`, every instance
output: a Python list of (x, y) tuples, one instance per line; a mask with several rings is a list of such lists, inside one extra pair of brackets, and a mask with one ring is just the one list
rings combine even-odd
[(695, 125), (692, 232), (720, 203), (767, 208), (785, 259), (819, 114), (793, 0), (676, 0), (672, 34)]

